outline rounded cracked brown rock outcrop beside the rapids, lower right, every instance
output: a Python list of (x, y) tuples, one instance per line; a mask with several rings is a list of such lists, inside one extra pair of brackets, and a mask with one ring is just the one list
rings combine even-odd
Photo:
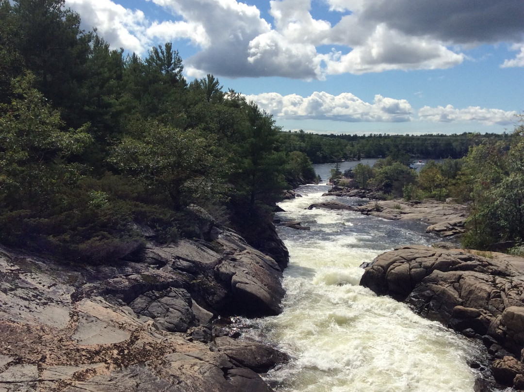
[(495, 380), (524, 390), (524, 258), (410, 245), (363, 267), (362, 286), (482, 340)]

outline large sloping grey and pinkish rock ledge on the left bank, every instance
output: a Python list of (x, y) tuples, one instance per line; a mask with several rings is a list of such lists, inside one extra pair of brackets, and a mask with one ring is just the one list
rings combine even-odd
[(259, 373), (287, 356), (214, 320), (278, 314), (280, 278), (227, 230), (111, 266), (0, 248), (0, 391), (270, 392)]

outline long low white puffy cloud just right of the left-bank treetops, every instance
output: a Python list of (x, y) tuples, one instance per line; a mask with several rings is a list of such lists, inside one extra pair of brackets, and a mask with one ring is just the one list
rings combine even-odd
[(329, 119), (345, 122), (406, 122), (412, 120), (413, 108), (406, 100), (375, 95), (373, 103), (364, 102), (351, 93), (332, 95), (314, 92), (297, 94), (263, 93), (247, 95), (260, 108), (285, 119)]

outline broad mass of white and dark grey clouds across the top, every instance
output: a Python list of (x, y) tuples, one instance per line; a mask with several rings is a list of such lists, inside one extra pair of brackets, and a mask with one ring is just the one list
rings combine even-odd
[[(524, 2), (515, 0), (318, 2), (340, 16), (333, 25), (314, 17), (313, 0), (265, 0), (257, 3), (259, 8), (241, 0), (147, 1), (163, 7), (173, 20), (147, 20), (111, 0), (66, 4), (114, 47), (144, 53), (158, 39), (189, 40), (199, 50), (184, 59), (190, 77), (324, 79), (342, 73), (445, 69), (465, 60), (465, 46), (524, 41)], [(272, 20), (261, 16), (263, 6)], [(337, 50), (326, 53), (330, 46)], [(521, 49), (502, 66), (521, 67), (523, 62)]]

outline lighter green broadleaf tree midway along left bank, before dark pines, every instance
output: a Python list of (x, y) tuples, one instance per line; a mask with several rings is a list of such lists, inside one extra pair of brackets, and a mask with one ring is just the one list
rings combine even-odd
[(220, 184), (227, 166), (215, 138), (140, 119), (132, 127), (107, 159), (119, 171), (166, 193), (175, 209), (222, 195)]

